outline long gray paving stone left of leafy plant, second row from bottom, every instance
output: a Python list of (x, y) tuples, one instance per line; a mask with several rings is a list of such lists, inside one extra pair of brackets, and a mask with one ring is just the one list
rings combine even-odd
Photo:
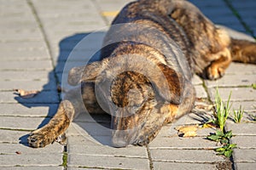
[(217, 156), (213, 150), (150, 150), (153, 161), (178, 161), (190, 163), (211, 163), (225, 161), (223, 156)]

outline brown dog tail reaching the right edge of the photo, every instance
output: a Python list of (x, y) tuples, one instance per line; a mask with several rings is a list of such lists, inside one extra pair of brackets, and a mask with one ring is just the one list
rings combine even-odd
[(256, 42), (231, 38), (230, 51), (233, 61), (256, 64)]

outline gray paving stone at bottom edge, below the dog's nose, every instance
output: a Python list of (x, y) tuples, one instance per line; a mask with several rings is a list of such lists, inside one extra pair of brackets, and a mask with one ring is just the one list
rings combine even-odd
[(68, 156), (68, 165), (71, 167), (102, 167), (105, 169), (149, 169), (148, 159), (127, 158), (119, 156), (91, 156), (70, 154)]

